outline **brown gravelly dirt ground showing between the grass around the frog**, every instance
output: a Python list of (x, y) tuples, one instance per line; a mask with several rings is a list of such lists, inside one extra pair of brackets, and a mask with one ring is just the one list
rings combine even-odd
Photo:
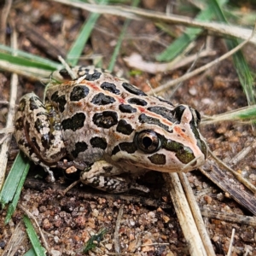
[[(139, 7), (164, 12), (166, 3), (167, 1), (143, 1)], [(88, 15), (86, 11), (47, 1), (15, 2), (10, 11), (12, 25), (15, 25), (18, 31), (18, 48), (55, 61), (57, 61), (57, 55), (65, 57)], [(123, 24), (122, 18), (102, 15), (96, 22), (83, 55), (102, 55), (103, 67), (108, 67)], [(168, 26), (168, 28), (175, 35), (183, 32), (179, 26)], [(9, 44), (11, 26), (6, 32), (7, 44)], [(36, 36), (35, 32), (38, 33)], [(197, 46), (193, 49), (194, 52), (201, 48), (206, 38), (207, 35), (204, 34), (196, 40)], [(139, 73), (131, 76), (129, 73), (131, 68), (125, 65), (123, 59), (132, 53), (139, 53), (144, 61), (155, 61), (155, 55), (166, 49), (171, 40), (172, 38), (165, 32), (161, 32), (154, 23), (131, 20), (114, 72), (122, 74), (130, 80), (131, 84), (145, 91), (150, 90), (148, 82), (153, 87), (158, 87), (170, 79), (182, 76), (189, 65), (172, 72)], [(45, 42), (49, 44), (44, 44)], [(51, 45), (50, 49), (48, 45)], [(216, 55), (201, 58), (196, 62), (196, 67), (226, 52), (222, 38), (212, 38), (212, 48), (216, 50)], [(249, 44), (243, 52), (250, 67), (255, 68), (256, 63), (253, 58), (255, 46)], [(92, 62), (84, 58), (79, 61), (79, 64), (91, 65)], [(1, 101), (9, 101), (9, 79), (10, 73), (0, 73)], [(19, 77), (18, 98), (31, 91), (42, 97), (44, 84)], [(170, 90), (164, 96), (173, 104), (184, 103), (196, 108), (201, 115), (224, 113), (247, 106), (247, 99), (231, 58), (181, 84), (174, 94)], [(3, 128), (8, 106), (4, 104), (0, 106), (0, 127)], [(206, 137), (209, 148), (225, 163), (229, 163), (242, 148), (246, 148), (254, 140), (250, 125), (231, 122), (201, 125), (201, 132)], [(253, 149), (234, 166), (235, 170), (243, 177), (247, 177), (253, 185), (256, 184), (254, 151)], [(17, 152), (14, 138), (9, 150), (9, 167), (15, 160)], [(20, 196), (20, 204), (32, 212), (44, 230), (52, 255), (82, 255), (84, 242), (101, 230), (107, 230), (107, 233), (97, 244), (96, 249), (89, 254), (113, 253), (115, 247), (113, 236), (120, 208), (123, 209), (119, 227), (120, 253), (189, 255), (188, 244), (183, 237), (166, 184), (160, 173), (150, 172), (140, 178), (139, 183), (150, 189), (147, 195), (138, 195), (132, 191), (129, 195), (109, 195), (82, 185), (77, 185), (67, 195), (62, 195), (63, 189), (66, 189), (71, 182), (65, 180), (61, 172), (56, 171), (57, 181), (54, 184), (46, 183), (44, 178), (35, 177), (35, 174), (42, 171), (39, 169), (38, 166), (32, 166)], [(205, 212), (233, 213), (253, 217), (252, 212), (241, 207), (200, 171), (189, 172), (187, 176), (198, 205)], [(0, 212), (0, 255), (20, 223), (23, 212), (17, 209), (10, 224), (6, 226), (3, 225), (5, 216), (6, 209), (3, 209)], [(246, 255), (246, 251), (248, 251), (247, 255), (256, 255), (255, 224), (210, 218), (207, 217), (207, 213), (204, 214), (204, 221), (216, 255), (226, 255), (228, 252), (233, 228), (236, 229), (236, 235), (232, 255)], [(24, 230), (24, 227), (22, 229)], [(29, 247), (30, 244), (26, 238), (15, 255), (23, 255)]]

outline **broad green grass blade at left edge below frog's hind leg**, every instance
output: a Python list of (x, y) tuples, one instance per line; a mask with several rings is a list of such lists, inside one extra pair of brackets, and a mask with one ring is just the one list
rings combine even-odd
[(0, 203), (2, 207), (13, 200), (15, 192), (20, 183), (20, 178), (26, 175), (27, 163), (24, 157), (19, 153), (16, 158), (14, 165), (12, 166), (3, 189), (0, 192)]

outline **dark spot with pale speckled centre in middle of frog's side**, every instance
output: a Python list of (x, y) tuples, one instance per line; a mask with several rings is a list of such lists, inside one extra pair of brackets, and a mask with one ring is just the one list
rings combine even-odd
[(118, 123), (118, 115), (113, 111), (103, 111), (95, 113), (92, 120), (96, 126), (108, 129)]

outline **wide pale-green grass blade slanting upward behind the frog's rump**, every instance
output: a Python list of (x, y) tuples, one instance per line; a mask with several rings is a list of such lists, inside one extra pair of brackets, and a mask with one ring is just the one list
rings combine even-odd
[[(108, 3), (107, 0), (102, 0), (101, 3)], [(99, 4), (101, 4), (99, 3)], [(100, 17), (100, 14), (90, 14), (89, 18), (85, 21), (84, 26), (82, 27), (81, 31), (79, 32), (79, 36), (73, 43), (71, 49), (69, 49), (67, 53), (67, 63), (74, 67), (77, 65), (79, 61), (79, 57), (83, 52), (84, 45), (90, 38), (90, 32), (95, 26), (96, 20)]]

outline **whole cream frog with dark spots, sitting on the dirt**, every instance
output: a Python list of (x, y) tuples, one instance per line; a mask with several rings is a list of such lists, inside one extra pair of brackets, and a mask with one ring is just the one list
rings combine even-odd
[(67, 166), (83, 170), (83, 183), (114, 193), (134, 187), (132, 178), (148, 170), (203, 165), (207, 145), (195, 109), (147, 96), (102, 69), (73, 71), (73, 81), (66, 70), (53, 74), (61, 84), (48, 84), (44, 104), (33, 93), (20, 99), (15, 137), (35, 163), (49, 171), (67, 159)]

